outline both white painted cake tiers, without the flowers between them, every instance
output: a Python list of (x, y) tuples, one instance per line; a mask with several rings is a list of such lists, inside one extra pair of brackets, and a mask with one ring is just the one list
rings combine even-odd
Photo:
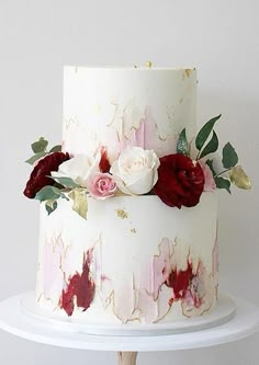
[[(66, 67), (63, 151), (112, 164), (127, 147), (176, 152), (195, 135), (194, 69)], [(171, 322), (217, 294), (217, 204), (169, 207), (157, 195), (88, 197), (87, 219), (60, 199), (41, 208), (37, 303), (82, 322)]]

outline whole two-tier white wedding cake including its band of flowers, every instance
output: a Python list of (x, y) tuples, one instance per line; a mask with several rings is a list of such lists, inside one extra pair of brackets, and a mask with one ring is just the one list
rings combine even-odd
[[(65, 67), (63, 144), (32, 145), (36, 300), (89, 323), (172, 322), (217, 298), (216, 187), (249, 189), (219, 116), (196, 134), (195, 69)], [(227, 171), (227, 175), (226, 175)]]

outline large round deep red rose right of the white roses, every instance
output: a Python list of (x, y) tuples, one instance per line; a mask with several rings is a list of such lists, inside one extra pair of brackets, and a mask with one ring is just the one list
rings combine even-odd
[(165, 204), (178, 208), (194, 206), (200, 201), (203, 186), (204, 174), (199, 162), (181, 153), (160, 159), (154, 192)]

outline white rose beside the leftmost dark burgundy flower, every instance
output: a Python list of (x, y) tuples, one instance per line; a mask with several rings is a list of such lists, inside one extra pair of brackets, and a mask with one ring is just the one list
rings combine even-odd
[(87, 155), (77, 155), (70, 160), (59, 164), (58, 171), (53, 171), (53, 178), (70, 178), (80, 186), (87, 187), (88, 179), (95, 172), (100, 171), (99, 163), (101, 153), (95, 157)]

